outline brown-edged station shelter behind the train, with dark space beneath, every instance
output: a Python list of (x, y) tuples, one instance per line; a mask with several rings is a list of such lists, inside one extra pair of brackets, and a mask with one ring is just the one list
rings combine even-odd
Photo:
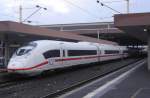
[(88, 41), (104, 44), (116, 42), (96, 39), (88, 36), (56, 31), (40, 26), (26, 25), (11, 21), (0, 22), (0, 65), (7, 66), (7, 63), (14, 51), (23, 45), (34, 40), (62, 40), (62, 41)]

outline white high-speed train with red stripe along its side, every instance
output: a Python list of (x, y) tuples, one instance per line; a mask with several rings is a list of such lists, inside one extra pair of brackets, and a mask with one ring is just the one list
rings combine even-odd
[(8, 63), (8, 71), (20, 74), (108, 61), (128, 56), (124, 46), (89, 42), (39, 40), (19, 48)]

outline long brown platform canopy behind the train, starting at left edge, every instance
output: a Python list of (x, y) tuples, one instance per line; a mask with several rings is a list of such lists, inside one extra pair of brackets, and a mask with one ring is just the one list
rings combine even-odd
[(46, 29), (39, 26), (31, 26), (27, 24), (1, 21), (0, 22), (0, 35), (7, 35), (8, 39), (16, 39), (18, 41), (22, 39), (36, 40), (36, 39), (52, 39), (52, 40), (67, 40), (67, 41), (88, 41), (97, 42), (103, 44), (117, 44), (115, 42), (101, 40), (82, 35), (72, 34), (68, 32), (55, 31)]

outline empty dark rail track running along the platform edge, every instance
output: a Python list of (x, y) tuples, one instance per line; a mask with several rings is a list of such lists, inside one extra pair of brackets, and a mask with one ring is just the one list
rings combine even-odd
[[(139, 60), (137, 60), (137, 61), (139, 61)], [(78, 87), (83, 86), (83, 85), (85, 85), (85, 84), (87, 84), (87, 83), (90, 83), (90, 82), (92, 82), (92, 81), (95, 81), (95, 80), (97, 80), (97, 79), (99, 79), (99, 78), (102, 78), (102, 77), (104, 77), (104, 76), (106, 76), (106, 75), (108, 75), (108, 74), (110, 74), (110, 73), (115, 72), (115, 71), (121, 70), (121, 69), (123, 69), (123, 68), (125, 68), (125, 67), (128, 67), (128, 66), (132, 65), (132, 64), (135, 64), (135, 63), (139, 64), (140, 62), (137, 62), (137, 61), (136, 61), (136, 62), (131, 62), (131, 63), (128, 64), (128, 65), (124, 65), (124, 66), (118, 67), (118, 68), (116, 68), (116, 69), (114, 69), (114, 70), (111, 70), (111, 71), (109, 71), (109, 72), (103, 73), (103, 74), (101, 74), (101, 75), (97, 75), (97, 76), (95, 76), (95, 77), (93, 77), (93, 78), (90, 78), (90, 79), (87, 79), (87, 80), (78, 82), (78, 83), (73, 84), (73, 85), (71, 85), (71, 86), (69, 86), (69, 87), (67, 87), (67, 88), (58, 90), (58, 91), (53, 92), (53, 93), (49, 93), (49, 94), (47, 94), (47, 95), (45, 95), (45, 96), (42, 96), (42, 97), (40, 97), (40, 98), (55, 98), (55, 97), (58, 97), (58, 96), (60, 96), (60, 95), (62, 95), (62, 94), (65, 94), (65, 93), (68, 92), (68, 91), (71, 91), (71, 90), (73, 90), (73, 89), (75, 89), (75, 88), (78, 88)]]

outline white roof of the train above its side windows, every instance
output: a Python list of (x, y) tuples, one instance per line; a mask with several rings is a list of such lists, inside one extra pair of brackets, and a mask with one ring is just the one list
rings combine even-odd
[(54, 41), (54, 40), (37, 40), (33, 41), (39, 46), (53, 46), (53, 47), (60, 47), (62, 44), (67, 49), (96, 49), (95, 46), (99, 47), (100, 49), (108, 49), (108, 50), (119, 50), (119, 49), (126, 49), (124, 46), (118, 45), (108, 45), (108, 44), (99, 44), (99, 43), (92, 43), (92, 42), (65, 42), (65, 41)]

